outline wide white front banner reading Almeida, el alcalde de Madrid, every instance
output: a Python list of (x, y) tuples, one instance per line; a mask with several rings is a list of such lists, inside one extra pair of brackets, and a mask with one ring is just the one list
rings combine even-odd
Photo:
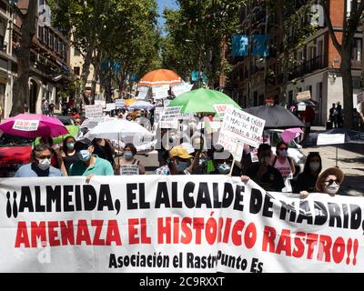
[(0, 272), (364, 272), (362, 197), (223, 175), (0, 185)]

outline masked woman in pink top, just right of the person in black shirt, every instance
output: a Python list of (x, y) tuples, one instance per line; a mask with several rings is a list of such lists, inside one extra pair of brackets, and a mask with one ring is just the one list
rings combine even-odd
[[(290, 186), (290, 180), (295, 175), (295, 164), (291, 158), (288, 157), (288, 145), (285, 142), (279, 142), (277, 144), (276, 154), (274, 157), (272, 165), (283, 177), (285, 182), (285, 192), (292, 192), (292, 186)], [(282, 190), (283, 191), (283, 190)]]

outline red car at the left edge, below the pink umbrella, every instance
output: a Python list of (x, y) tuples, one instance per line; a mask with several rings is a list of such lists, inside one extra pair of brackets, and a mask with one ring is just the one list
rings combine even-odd
[(0, 177), (12, 177), (19, 166), (30, 162), (33, 139), (14, 135), (0, 136)]

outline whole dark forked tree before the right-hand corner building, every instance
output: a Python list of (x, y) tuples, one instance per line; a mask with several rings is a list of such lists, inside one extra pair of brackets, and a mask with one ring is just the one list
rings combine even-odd
[(344, 99), (344, 127), (351, 129), (353, 127), (353, 79), (351, 73), (351, 57), (353, 48), (353, 37), (358, 30), (360, 18), (364, 12), (364, 1), (352, 0), (351, 11), (348, 15), (347, 0), (344, 1), (344, 14), (342, 33), (338, 33), (330, 18), (330, 1), (320, 0), (324, 8), (326, 23), (329, 27), (329, 35), (332, 43), (337, 49), (340, 57), (340, 73), (342, 76), (342, 90)]

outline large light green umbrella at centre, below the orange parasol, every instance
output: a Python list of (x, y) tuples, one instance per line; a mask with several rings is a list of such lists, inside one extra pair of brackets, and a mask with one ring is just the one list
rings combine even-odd
[(234, 105), (234, 107), (241, 109), (241, 107), (228, 95), (215, 90), (205, 88), (193, 90), (185, 94), (179, 95), (174, 99), (170, 106), (182, 106), (181, 113), (216, 113), (214, 105)]

